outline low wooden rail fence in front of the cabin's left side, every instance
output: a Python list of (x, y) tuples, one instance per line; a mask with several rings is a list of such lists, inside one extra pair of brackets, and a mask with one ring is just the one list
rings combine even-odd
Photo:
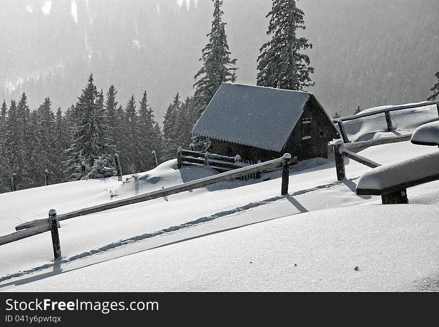
[[(259, 163), (258, 161), (257, 163)], [(199, 152), (192, 150), (185, 150), (180, 147), (177, 150), (177, 168), (182, 166), (210, 166), (220, 172), (226, 172), (237, 168), (242, 168), (250, 165), (254, 165), (256, 162), (250, 160), (242, 160), (239, 155), (234, 157), (223, 156), (219, 154), (210, 153), (208, 151)], [(253, 173), (241, 177), (242, 179), (260, 178), (259, 173)]]

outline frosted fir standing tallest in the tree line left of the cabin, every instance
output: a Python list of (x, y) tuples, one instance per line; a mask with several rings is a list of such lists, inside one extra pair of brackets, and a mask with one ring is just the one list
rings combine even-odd
[[(102, 92), (98, 93), (93, 84), (93, 74), (82, 90), (74, 111), (75, 125), (73, 127), (73, 144), (67, 150), (69, 159), (66, 161), (66, 172), (69, 180), (83, 177), (81, 163), (90, 167), (94, 160), (107, 154), (110, 149), (110, 139), (106, 135), (108, 127), (105, 124)], [(88, 172), (87, 172), (88, 173)]]

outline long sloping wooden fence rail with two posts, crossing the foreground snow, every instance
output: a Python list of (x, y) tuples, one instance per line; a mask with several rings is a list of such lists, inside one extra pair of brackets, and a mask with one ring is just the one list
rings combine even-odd
[[(7, 244), (10, 242), (14, 242), (14, 241), (18, 241), (18, 240), (21, 240), (21, 239), (24, 239), (24, 238), (27, 238), (30, 236), (34, 236), (37, 234), (45, 233), (48, 231), (52, 231), (52, 229), (54, 228), (54, 225), (59, 226), (59, 225), (53, 223), (53, 219), (55, 219), (56, 222), (59, 222), (62, 220), (66, 220), (66, 219), (70, 219), (70, 218), (74, 218), (74, 217), (79, 217), (79, 216), (84, 216), (84, 215), (97, 213), (97, 212), (101, 212), (101, 211), (105, 211), (105, 210), (110, 210), (110, 209), (114, 209), (114, 208), (119, 208), (122, 206), (134, 204), (134, 203), (139, 203), (139, 202), (144, 202), (144, 201), (153, 200), (153, 199), (157, 199), (157, 198), (162, 198), (162, 197), (169, 196), (172, 194), (177, 194), (177, 193), (193, 190), (196, 188), (208, 186), (208, 185), (219, 183), (219, 182), (226, 181), (226, 180), (236, 179), (236, 178), (239, 178), (239, 177), (242, 177), (245, 175), (249, 175), (252, 173), (259, 173), (259, 172), (266, 171), (266, 170), (269, 170), (272, 168), (277, 168), (277, 167), (282, 167), (282, 183), (281, 183), (280, 193), (281, 193), (281, 195), (285, 195), (288, 193), (289, 168), (290, 168), (290, 164), (292, 162), (297, 162), (297, 157), (291, 158), (291, 155), (289, 153), (285, 153), (283, 155), (283, 157), (281, 157), (281, 158), (273, 159), (270, 161), (265, 161), (265, 162), (258, 163), (255, 165), (250, 165), (247, 167), (234, 169), (234, 170), (220, 173), (220, 174), (217, 174), (214, 176), (197, 179), (195, 181), (183, 183), (183, 184), (176, 185), (176, 186), (167, 187), (167, 188), (164, 188), (161, 190), (141, 194), (141, 195), (138, 195), (135, 197), (130, 197), (130, 198), (123, 199), (123, 200), (118, 200), (118, 201), (114, 201), (114, 202), (110, 202), (110, 203), (104, 203), (104, 204), (100, 204), (97, 206), (72, 211), (72, 212), (69, 212), (66, 214), (61, 214), (58, 216), (56, 216), (56, 212), (52, 209), (53, 211), (52, 210), (49, 211), (49, 219), (37, 219), (37, 220), (30, 221), (30, 222), (25, 222), (25, 223), (20, 224), (20, 225), (15, 227), (15, 230), (17, 230), (17, 232), (14, 232), (14, 233), (9, 234), (9, 235), (1, 236), (0, 237), (0, 245)], [(53, 216), (53, 213), (55, 214), (55, 216)], [(52, 243), (53, 243), (53, 251), (55, 254), (55, 260), (60, 257), (60, 253), (61, 253), (60, 252), (61, 250), (59, 247), (59, 236), (56, 237), (56, 234), (57, 234), (57, 231), (56, 232), (52, 231), (52, 241), (53, 241)], [(57, 242), (56, 242), (56, 238), (58, 239)], [(57, 246), (55, 246), (55, 243), (57, 243)], [(59, 251), (57, 251), (55, 248), (58, 249)], [(57, 257), (56, 253), (59, 253), (59, 257)]]

